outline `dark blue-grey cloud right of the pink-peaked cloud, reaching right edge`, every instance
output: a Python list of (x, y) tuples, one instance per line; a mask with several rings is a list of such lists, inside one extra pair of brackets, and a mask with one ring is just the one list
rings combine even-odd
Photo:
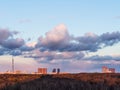
[(78, 41), (79, 44), (73, 44), (73, 48), (76, 48), (75, 50), (95, 52), (103, 47), (118, 43), (120, 41), (120, 32), (107, 32), (102, 35), (87, 33), (82, 37), (77, 37), (76, 41)]

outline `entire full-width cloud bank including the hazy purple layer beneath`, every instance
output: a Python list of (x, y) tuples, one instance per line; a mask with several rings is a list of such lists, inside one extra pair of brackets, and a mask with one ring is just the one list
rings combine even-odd
[(89, 32), (75, 37), (69, 34), (64, 24), (60, 24), (48, 31), (44, 37), (40, 36), (38, 41), (30, 42), (29, 39), (29, 43), (26, 43), (23, 38), (14, 38), (17, 34), (19, 34), (17, 31), (0, 29), (0, 55), (21, 55), (25, 58), (34, 58), (44, 64), (60, 64), (63, 67), (78, 67), (85, 70), (88, 70), (89, 67), (100, 68), (102, 65), (110, 63), (120, 64), (120, 56), (86, 57), (86, 52), (96, 52), (120, 42), (119, 31), (101, 35)]

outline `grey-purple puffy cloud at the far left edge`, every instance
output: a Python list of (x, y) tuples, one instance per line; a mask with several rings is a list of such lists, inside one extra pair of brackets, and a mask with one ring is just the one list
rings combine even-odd
[(24, 44), (21, 38), (14, 39), (13, 36), (18, 34), (17, 31), (9, 31), (8, 29), (0, 29), (0, 45), (5, 48), (19, 48)]

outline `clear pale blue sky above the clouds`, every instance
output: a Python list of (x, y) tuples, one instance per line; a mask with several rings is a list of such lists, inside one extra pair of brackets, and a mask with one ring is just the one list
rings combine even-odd
[[(119, 30), (118, 0), (4, 0), (0, 1), (1, 27), (44, 34), (60, 23), (69, 32), (101, 34)], [(26, 21), (19, 23), (20, 21)], [(32, 34), (33, 35), (33, 34)], [(32, 36), (30, 35), (30, 36)]]

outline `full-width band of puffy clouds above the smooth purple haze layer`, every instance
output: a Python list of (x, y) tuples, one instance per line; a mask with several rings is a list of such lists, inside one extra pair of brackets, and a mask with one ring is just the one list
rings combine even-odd
[[(22, 55), (24, 52), (32, 58), (42, 58), (51, 61), (53, 59), (75, 59), (84, 58), (83, 52), (96, 52), (107, 46), (112, 46), (120, 41), (120, 32), (103, 33), (96, 35), (92, 32), (83, 36), (75, 37), (70, 35), (67, 27), (60, 24), (48, 31), (44, 37), (40, 36), (38, 42), (26, 44), (22, 38), (14, 38), (17, 31), (0, 29), (0, 49), (2, 54)], [(97, 56), (94, 58), (99, 59)], [(94, 59), (91, 57), (91, 59)], [(103, 59), (103, 58), (102, 58)]]

